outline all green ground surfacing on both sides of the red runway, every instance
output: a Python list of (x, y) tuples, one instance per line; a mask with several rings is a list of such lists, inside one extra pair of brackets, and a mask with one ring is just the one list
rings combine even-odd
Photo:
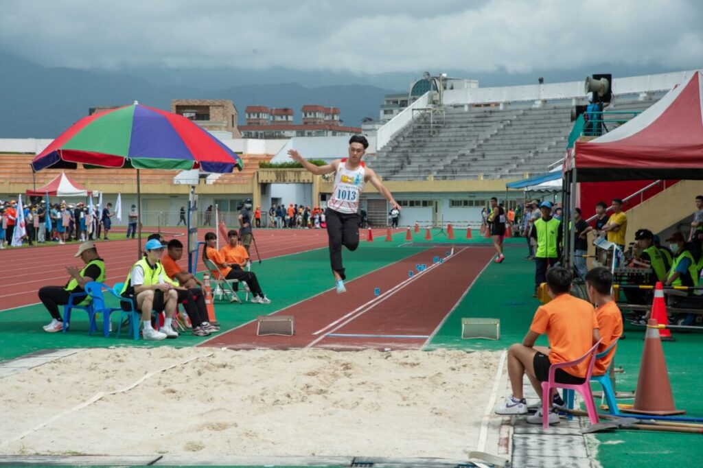
[[(465, 233), (465, 230), (464, 230)], [(456, 235), (457, 233), (455, 233)], [(441, 234), (428, 242), (438, 242)], [(424, 237), (414, 234), (413, 242)], [(416, 238), (416, 239), (415, 239)], [(509, 240), (524, 242), (523, 239)], [(397, 248), (406, 242), (405, 233), (394, 235), (393, 242), (376, 239), (363, 243), (356, 252), (344, 251), (344, 264), (349, 278), (420, 251), (417, 248)], [(476, 241), (479, 242), (479, 241)], [(486, 244), (488, 240), (484, 241)], [(460, 243), (460, 242), (448, 242)], [(531, 297), (534, 288), (534, 263), (523, 257), (527, 249), (509, 245), (502, 264), (489, 264), (475, 284), (447, 318), (444, 325), (428, 344), (432, 349), (463, 349), (465, 351), (501, 351), (520, 342), (527, 332), (539, 303)], [(217, 306), (218, 319), (224, 328), (234, 327), (254, 319), (261, 313), (270, 313), (284, 306), (328, 290), (330, 280), (327, 249), (293, 254), (279, 259), (265, 260), (254, 265), (267, 295), (273, 299), (269, 306), (239, 306), (221, 303)], [(501, 319), (501, 339), (461, 339), (461, 318), (482, 317)], [(0, 358), (8, 359), (40, 349), (63, 347), (105, 346), (191, 346), (202, 338), (184, 335), (175, 342), (134, 342), (129, 339), (105, 339), (101, 334), (87, 336), (87, 320), (78, 311), (67, 334), (47, 334), (41, 330), (48, 320), (42, 306), (28, 306), (0, 313)], [(626, 325), (627, 337), (621, 340), (615, 357), (616, 365), (624, 368), (617, 374), (619, 391), (633, 391), (637, 384), (640, 357), (643, 349), (643, 328)], [(703, 369), (703, 334), (676, 334), (676, 342), (665, 342), (664, 353), (669, 366), (669, 378), (677, 408), (687, 410), (692, 417), (703, 417), (703, 398), (699, 397)], [(547, 344), (541, 337), (539, 344)], [(594, 387), (594, 390), (600, 390)], [(631, 401), (624, 401), (631, 403)], [(660, 467), (697, 466), (703, 458), (703, 443), (697, 434), (669, 434), (662, 432), (617, 431), (597, 434), (600, 441), (596, 458), (603, 467)]]

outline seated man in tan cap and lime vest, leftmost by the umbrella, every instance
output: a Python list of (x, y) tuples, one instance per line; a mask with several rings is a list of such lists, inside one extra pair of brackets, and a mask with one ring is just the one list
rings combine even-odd
[[(45, 332), (59, 332), (63, 330), (63, 318), (58, 313), (58, 306), (68, 304), (71, 294), (84, 292), (87, 282), (105, 280), (105, 261), (98, 256), (95, 242), (83, 242), (78, 247), (76, 257), (81, 257), (85, 266), (79, 270), (75, 266), (67, 266), (66, 271), (71, 275), (65, 286), (44, 286), (39, 290), (39, 300), (51, 314), (51, 323), (44, 327)], [(89, 297), (81, 297), (73, 304), (84, 305), (90, 301)]]

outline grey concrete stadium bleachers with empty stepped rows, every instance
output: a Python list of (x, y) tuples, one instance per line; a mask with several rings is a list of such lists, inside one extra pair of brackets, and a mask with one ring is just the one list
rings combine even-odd
[[(641, 111), (655, 100), (614, 103), (612, 110)], [(564, 157), (572, 129), (569, 102), (541, 108), (445, 108), (444, 123), (420, 115), (368, 160), (382, 178), (411, 181), (524, 178)], [(627, 120), (633, 115), (622, 115)]]

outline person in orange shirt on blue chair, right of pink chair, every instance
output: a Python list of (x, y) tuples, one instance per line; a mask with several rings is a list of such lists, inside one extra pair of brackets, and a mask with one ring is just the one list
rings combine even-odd
[[(613, 301), (610, 291), (613, 285), (613, 275), (605, 267), (599, 266), (586, 273), (586, 288), (588, 299), (595, 304), (595, 318), (598, 320), (598, 332), (602, 341), (598, 351), (605, 351), (622, 334), (622, 314)], [(595, 361), (593, 375), (604, 375), (615, 355), (615, 348), (607, 355)]]

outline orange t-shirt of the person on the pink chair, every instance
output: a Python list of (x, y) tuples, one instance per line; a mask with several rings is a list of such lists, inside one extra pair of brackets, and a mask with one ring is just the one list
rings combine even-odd
[[(593, 305), (571, 294), (560, 294), (534, 313), (529, 329), (547, 334), (549, 362), (568, 363), (586, 354), (593, 346), (593, 329), (598, 328)], [(575, 377), (586, 377), (588, 359), (564, 369)]]

